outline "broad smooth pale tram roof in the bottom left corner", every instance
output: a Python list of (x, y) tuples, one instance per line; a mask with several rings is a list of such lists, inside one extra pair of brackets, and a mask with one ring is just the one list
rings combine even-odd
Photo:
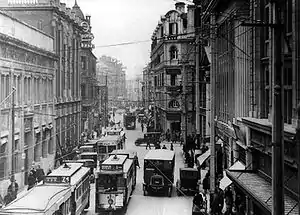
[(51, 206), (56, 205), (62, 198), (69, 198), (71, 195), (70, 191), (70, 188), (62, 186), (35, 186), (26, 194), (20, 196), (3, 209), (0, 209), (0, 213), (44, 214), (45, 211), (50, 209)]

